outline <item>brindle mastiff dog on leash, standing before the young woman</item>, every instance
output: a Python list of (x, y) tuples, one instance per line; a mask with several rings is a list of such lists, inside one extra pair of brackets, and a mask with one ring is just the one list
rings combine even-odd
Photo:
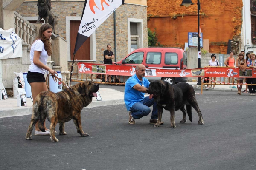
[(89, 136), (85, 133), (81, 125), (81, 110), (92, 102), (93, 97), (97, 97), (96, 92), (99, 90), (99, 85), (91, 81), (80, 82), (73, 85), (70, 89), (53, 93), (51, 91), (43, 91), (35, 98), (33, 105), (33, 113), (31, 122), (26, 134), (26, 139), (32, 139), (32, 130), (35, 123), (39, 121), (39, 128), (45, 132), (45, 118), (50, 124), (50, 139), (52, 142), (58, 142), (55, 137), (55, 126), (59, 123), (60, 135), (66, 135), (64, 131), (65, 122), (73, 119), (76, 125), (77, 133), (81, 136)]

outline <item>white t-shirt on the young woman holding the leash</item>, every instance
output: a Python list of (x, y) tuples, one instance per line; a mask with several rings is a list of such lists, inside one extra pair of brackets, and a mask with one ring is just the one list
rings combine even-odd
[(30, 72), (38, 72), (38, 73), (42, 73), (45, 74), (46, 70), (44, 70), (43, 68), (38, 67), (37, 65), (34, 64), (33, 59), (34, 59), (34, 51), (41, 51), (40, 53), (40, 57), (39, 60), (46, 65), (46, 61), (48, 58), (47, 52), (44, 49), (44, 42), (42, 42), (41, 40), (36, 40), (31, 48), (30, 48), (30, 62), (31, 65), (29, 65), (29, 71)]

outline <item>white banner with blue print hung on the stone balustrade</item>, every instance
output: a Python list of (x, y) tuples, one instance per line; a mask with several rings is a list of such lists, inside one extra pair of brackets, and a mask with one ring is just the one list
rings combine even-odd
[(0, 28), (0, 59), (22, 57), (22, 40), (15, 34), (14, 28)]

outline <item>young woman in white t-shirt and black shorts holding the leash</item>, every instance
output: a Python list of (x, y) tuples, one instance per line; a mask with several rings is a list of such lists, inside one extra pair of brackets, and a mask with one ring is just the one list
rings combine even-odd
[[(47, 85), (45, 83), (44, 74), (46, 70), (52, 75), (57, 74), (46, 65), (47, 58), (52, 55), (52, 45), (50, 38), (52, 36), (52, 26), (44, 24), (39, 29), (39, 36), (33, 42), (30, 49), (30, 62), (29, 72), (27, 74), (27, 80), (31, 86), (31, 93), (33, 100), (41, 91), (47, 91)], [(58, 74), (57, 74), (58, 75)], [(38, 127), (38, 122), (35, 124), (35, 135), (50, 135), (49, 129), (45, 127), (45, 132), (41, 132)]]

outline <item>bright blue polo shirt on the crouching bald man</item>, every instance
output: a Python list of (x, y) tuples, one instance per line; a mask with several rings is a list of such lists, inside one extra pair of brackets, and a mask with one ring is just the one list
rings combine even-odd
[(149, 81), (145, 77), (143, 77), (142, 81), (140, 81), (136, 74), (134, 74), (125, 82), (125, 106), (127, 111), (130, 111), (130, 108), (132, 105), (134, 105), (134, 103), (140, 102), (144, 99), (145, 93), (137, 91), (133, 88), (133, 86), (136, 84), (148, 88)]

